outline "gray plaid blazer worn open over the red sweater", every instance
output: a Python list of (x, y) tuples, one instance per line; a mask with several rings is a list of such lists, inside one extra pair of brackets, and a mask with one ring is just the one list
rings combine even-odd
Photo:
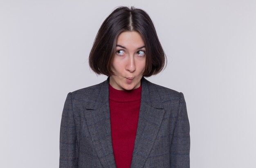
[[(60, 168), (115, 168), (109, 78), (67, 94), (61, 119)], [(189, 168), (190, 135), (181, 92), (141, 79), (131, 168)]]

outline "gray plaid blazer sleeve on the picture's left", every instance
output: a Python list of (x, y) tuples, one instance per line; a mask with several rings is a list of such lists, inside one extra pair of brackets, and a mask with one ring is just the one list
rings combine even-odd
[(76, 125), (72, 107), (72, 93), (67, 94), (61, 117), (59, 168), (78, 167)]

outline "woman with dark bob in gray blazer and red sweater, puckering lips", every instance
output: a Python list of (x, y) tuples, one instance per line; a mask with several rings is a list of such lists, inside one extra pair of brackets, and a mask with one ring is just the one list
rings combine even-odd
[(145, 11), (119, 7), (106, 18), (89, 63), (108, 79), (67, 94), (60, 168), (189, 168), (184, 96), (144, 78), (165, 61)]

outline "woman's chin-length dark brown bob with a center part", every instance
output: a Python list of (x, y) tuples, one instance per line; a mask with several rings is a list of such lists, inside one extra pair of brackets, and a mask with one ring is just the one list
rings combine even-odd
[(94, 40), (89, 65), (96, 74), (111, 76), (117, 37), (124, 31), (137, 31), (146, 47), (143, 76), (158, 74), (166, 65), (166, 55), (159, 42), (154, 24), (146, 11), (135, 7), (118, 7), (104, 20)]

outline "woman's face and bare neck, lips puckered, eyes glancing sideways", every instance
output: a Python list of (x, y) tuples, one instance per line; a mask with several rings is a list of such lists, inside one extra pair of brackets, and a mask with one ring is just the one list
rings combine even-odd
[(116, 52), (111, 66), (114, 75), (110, 85), (117, 90), (132, 90), (140, 86), (146, 66), (146, 48), (137, 31), (124, 31), (117, 37)]

